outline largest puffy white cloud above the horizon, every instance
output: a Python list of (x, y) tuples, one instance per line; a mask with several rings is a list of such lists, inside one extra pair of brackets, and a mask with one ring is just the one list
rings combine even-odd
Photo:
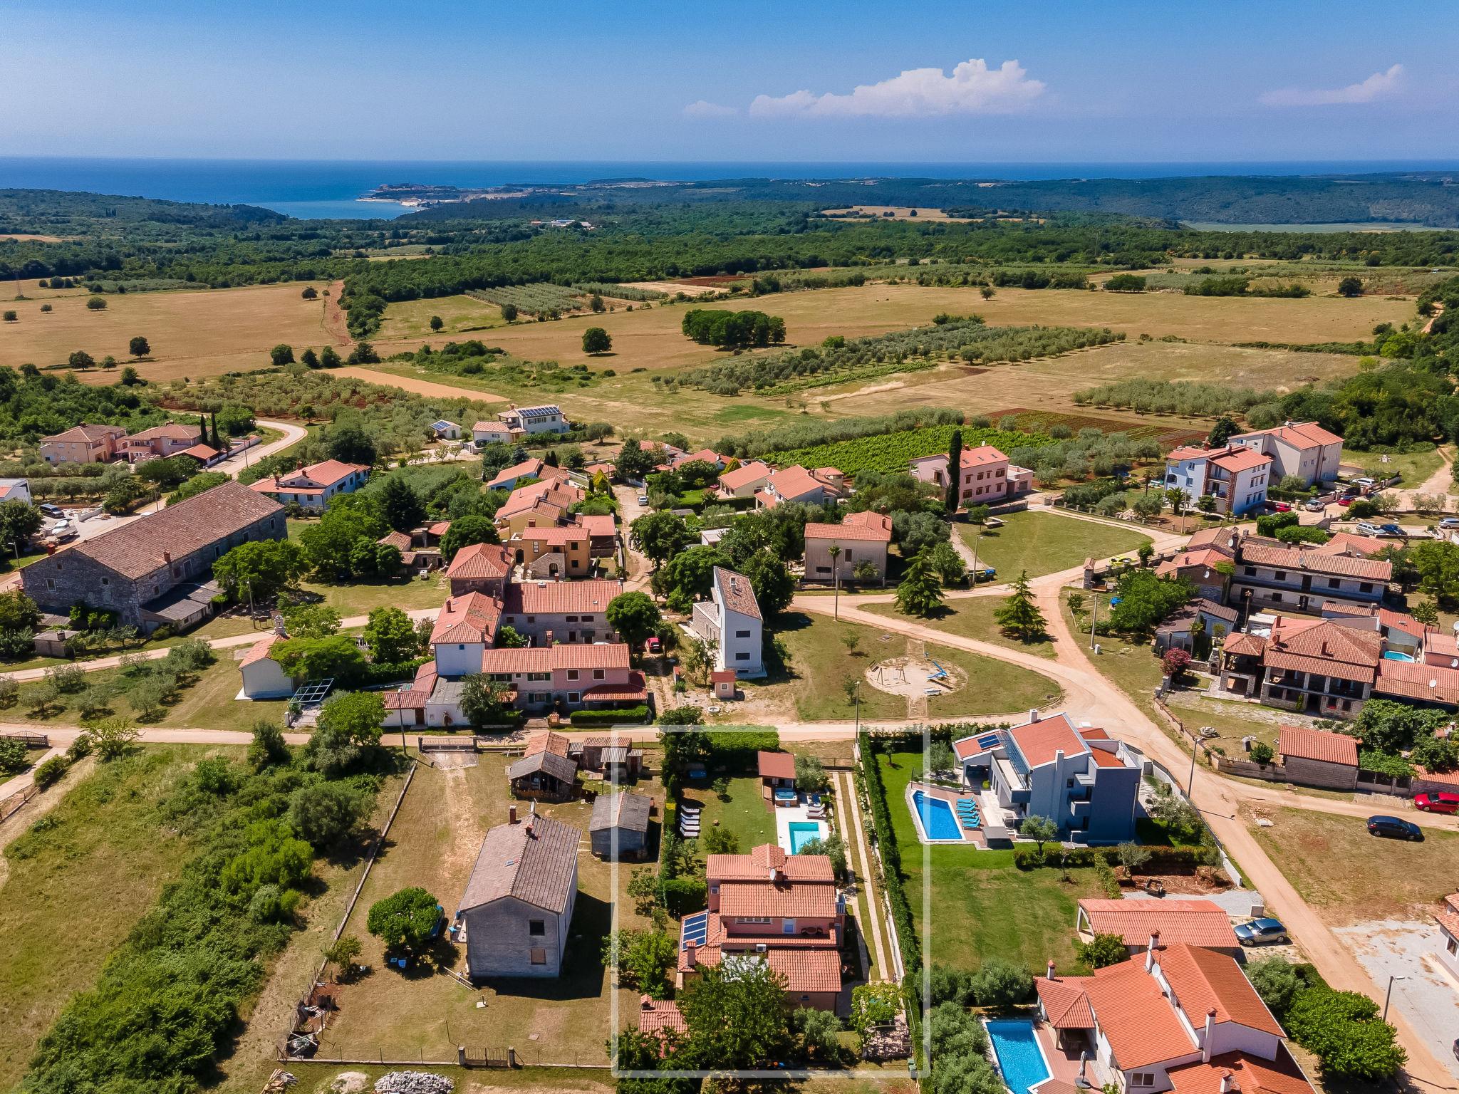
[(951, 76), (941, 69), (907, 69), (881, 83), (862, 83), (849, 95), (808, 90), (757, 95), (750, 114), (817, 118), (935, 118), (948, 114), (1010, 114), (1043, 95), (1018, 61), (989, 69), (982, 58), (963, 61)]

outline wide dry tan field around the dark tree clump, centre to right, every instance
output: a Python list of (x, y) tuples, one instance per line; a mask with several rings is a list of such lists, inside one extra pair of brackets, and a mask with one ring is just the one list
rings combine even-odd
[[(444, 308), (442, 298), (433, 306)], [(387, 321), (397, 308), (391, 305)], [(633, 368), (662, 369), (708, 365), (718, 350), (696, 346), (680, 333), (689, 305), (654, 305), (643, 311), (579, 315), (554, 322), (515, 324), (492, 331), (492, 343), (531, 360), (587, 362), (582, 331), (603, 327), (613, 335), (613, 357), (597, 359), (620, 373)], [(1382, 298), (1301, 300), (1183, 293), (1103, 293), (1056, 289), (999, 289), (983, 300), (976, 289), (919, 284), (868, 284), (846, 289), (762, 296), (756, 300), (721, 300), (706, 308), (759, 308), (785, 319), (791, 346), (814, 346), (830, 334), (859, 337), (928, 324), (938, 312), (978, 314), (995, 325), (1045, 324), (1056, 327), (1109, 327), (1192, 341), (1347, 341), (1369, 337), (1377, 322), (1408, 319), (1409, 300)], [(444, 317), (444, 314), (442, 314)], [(390, 352), (419, 343), (376, 343)], [(773, 350), (772, 350), (773, 352)]]

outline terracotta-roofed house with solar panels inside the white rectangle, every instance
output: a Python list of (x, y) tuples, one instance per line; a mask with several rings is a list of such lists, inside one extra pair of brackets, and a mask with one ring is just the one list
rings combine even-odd
[(835, 1009), (846, 904), (830, 859), (765, 843), (711, 855), (705, 875), (709, 909), (680, 926), (678, 986), (703, 966), (763, 961), (785, 977), (792, 1006)]

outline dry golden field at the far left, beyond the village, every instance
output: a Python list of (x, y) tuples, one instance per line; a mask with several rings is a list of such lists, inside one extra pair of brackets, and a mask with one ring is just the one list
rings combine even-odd
[[(55, 309), (50, 314), (41, 314), (41, 299), (19, 300), (13, 303), (19, 322), (0, 324), (0, 365), (44, 368), (64, 362), (71, 350), (128, 363), (127, 343), (142, 334), (152, 343), (152, 359), (137, 363), (147, 379), (257, 369), (268, 365), (268, 350), (282, 341), (296, 353), (331, 341), (322, 325), (324, 302), (301, 299), (301, 292), (299, 283), (289, 283), (108, 295), (101, 312), (88, 311), (85, 292), (47, 296), (44, 302)], [(95, 372), (86, 379), (114, 378)]]

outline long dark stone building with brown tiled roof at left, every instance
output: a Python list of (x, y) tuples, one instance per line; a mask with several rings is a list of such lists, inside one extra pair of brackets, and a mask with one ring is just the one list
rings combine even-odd
[(20, 581), (45, 611), (86, 602), (147, 633), (163, 623), (181, 630), (213, 614), (214, 562), (241, 543), (286, 535), (283, 506), (228, 481), (34, 562)]

